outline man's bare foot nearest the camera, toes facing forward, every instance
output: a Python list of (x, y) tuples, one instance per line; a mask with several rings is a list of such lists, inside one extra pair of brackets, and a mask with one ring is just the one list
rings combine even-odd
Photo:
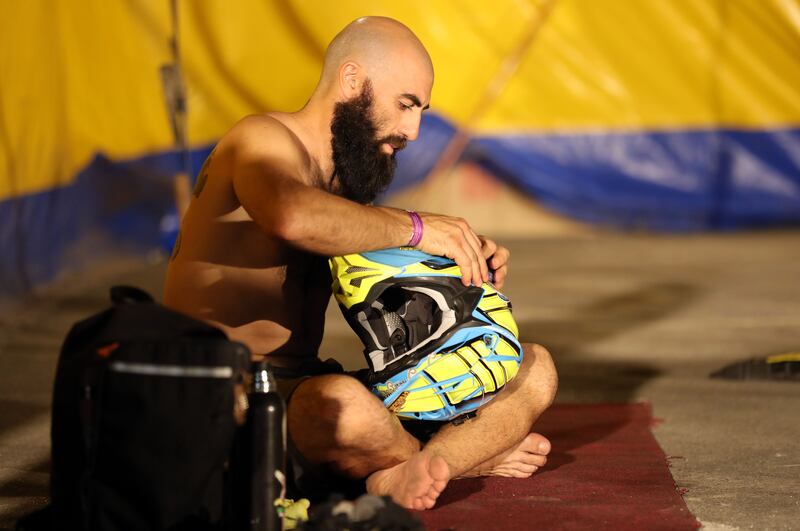
[(450, 481), (450, 468), (439, 456), (422, 451), (399, 465), (367, 478), (367, 492), (391, 496), (406, 509), (430, 509)]

